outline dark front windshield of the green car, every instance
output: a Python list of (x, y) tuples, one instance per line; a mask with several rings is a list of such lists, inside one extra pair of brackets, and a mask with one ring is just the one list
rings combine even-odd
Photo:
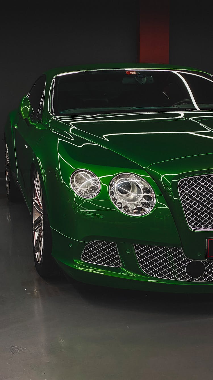
[(100, 70), (55, 78), (55, 116), (177, 109), (213, 109), (213, 77), (180, 70)]

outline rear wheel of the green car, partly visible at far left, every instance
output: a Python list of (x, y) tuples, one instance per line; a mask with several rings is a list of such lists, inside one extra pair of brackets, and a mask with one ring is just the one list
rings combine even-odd
[(20, 202), (23, 201), (22, 194), (12, 176), (11, 167), (9, 163), (8, 145), (5, 142), (5, 176), (6, 176), (6, 192), (8, 201)]

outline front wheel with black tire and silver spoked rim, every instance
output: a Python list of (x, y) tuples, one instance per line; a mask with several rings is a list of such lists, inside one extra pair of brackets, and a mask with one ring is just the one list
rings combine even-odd
[(32, 183), (32, 240), (36, 271), (41, 277), (59, 273), (52, 256), (52, 234), (39, 173), (34, 170)]

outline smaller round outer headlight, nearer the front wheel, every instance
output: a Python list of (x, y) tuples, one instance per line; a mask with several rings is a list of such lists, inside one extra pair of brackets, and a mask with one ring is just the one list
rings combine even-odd
[(70, 186), (81, 198), (94, 198), (101, 190), (101, 183), (92, 171), (79, 169), (70, 177)]

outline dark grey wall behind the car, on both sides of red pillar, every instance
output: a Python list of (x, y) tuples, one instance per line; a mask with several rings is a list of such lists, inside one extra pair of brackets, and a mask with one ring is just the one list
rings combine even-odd
[[(0, 172), (4, 170), (3, 128), (8, 112), (17, 108), (40, 73), (78, 63), (136, 62), (139, 3), (152, 23), (150, 4), (143, 0), (63, 1), (54, 7), (36, 3), (36, 9), (31, 2), (28, 8), (22, 3), (22, 10), (19, 4), (17, 9), (14, 5), (9, 9), (9, 3), (8, 9), (4, 6)], [(213, 73), (212, 14), (207, 1), (170, 2), (169, 63)]]

